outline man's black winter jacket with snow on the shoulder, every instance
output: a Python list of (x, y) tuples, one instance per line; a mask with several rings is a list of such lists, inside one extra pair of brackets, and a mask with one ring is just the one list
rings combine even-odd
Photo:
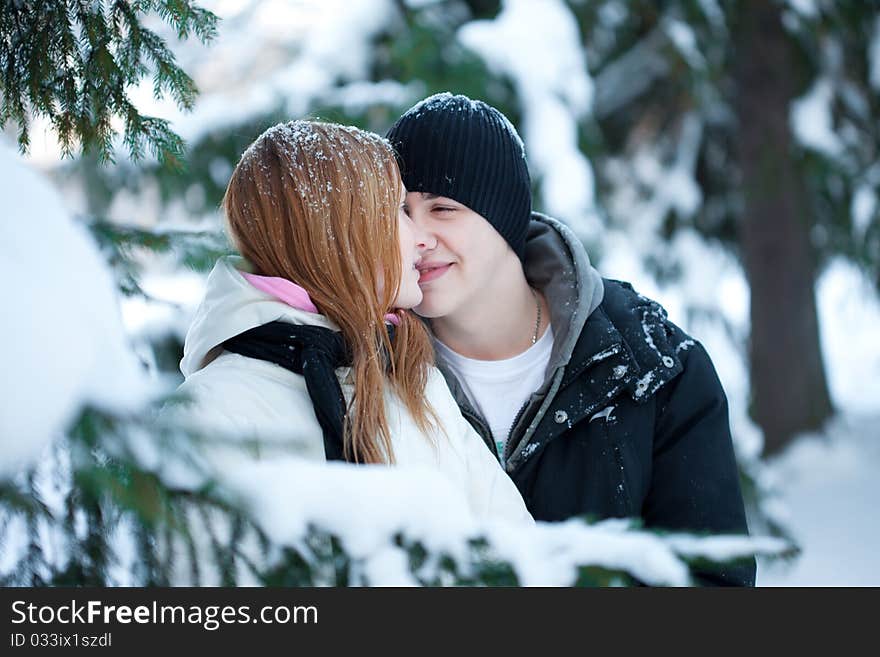
[[(748, 534), (727, 399), (709, 355), (629, 284), (603, 285), (558, 385), (548, 378), (511, 430), (507, 471), (529, 511), (536, 520), (630, 517), (646, 528)], [(494, 452), (485, 421), (441, 369)], [(702, 585), (753, 586), (755, 560), (694, 575)]]

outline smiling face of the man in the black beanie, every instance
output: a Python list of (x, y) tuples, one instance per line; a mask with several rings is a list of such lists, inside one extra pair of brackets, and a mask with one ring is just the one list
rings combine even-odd
[(430, 318), (466, 312), (481, 301), (510, 247), (481, 215), (445, 196), (409, 192), (406, 211), (431, 238), (418, 264), (422, 302), (414, 310)]

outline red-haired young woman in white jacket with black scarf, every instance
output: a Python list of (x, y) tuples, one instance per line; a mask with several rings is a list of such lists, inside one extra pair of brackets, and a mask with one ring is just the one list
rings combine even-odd
[(310, 121), (261, 135), (226, 190), (242, 258), (217, 262), (187, 334), (185, 412), (214, 434), (294, 443), (306, 458), (429, 465), (478, 517), (531, 522), (408, 311), (431, 245), (404, 198), (378, 135)]

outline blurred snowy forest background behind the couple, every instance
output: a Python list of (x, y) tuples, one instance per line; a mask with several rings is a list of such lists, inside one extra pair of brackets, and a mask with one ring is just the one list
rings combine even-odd
[(192, 111), (150, 79), (129, 90), (185, 140), (182, 168), (63, 158), (39, 118), (27, 155), (98, 238), (156, 377), (180, 379), (256, 136), (302, 117), (384, 134), (427, 95), (467, 94), (518, 128), (534, 208), (706, 345), (750, 527), (802, 549), (759, 561), (758, 584), (880, 584), (880, 2), (199, 4), (220, 19), (209, 43), (147, 21), (195, 81)]

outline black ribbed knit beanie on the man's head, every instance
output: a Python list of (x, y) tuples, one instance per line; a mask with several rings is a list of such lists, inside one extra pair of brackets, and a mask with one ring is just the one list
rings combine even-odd
[(411, 107), (386, 137), (407, 191), (466, 205), (523, 259), (531, 183), (522, 140), (507, 117), (481, 100), (447, 92)]

